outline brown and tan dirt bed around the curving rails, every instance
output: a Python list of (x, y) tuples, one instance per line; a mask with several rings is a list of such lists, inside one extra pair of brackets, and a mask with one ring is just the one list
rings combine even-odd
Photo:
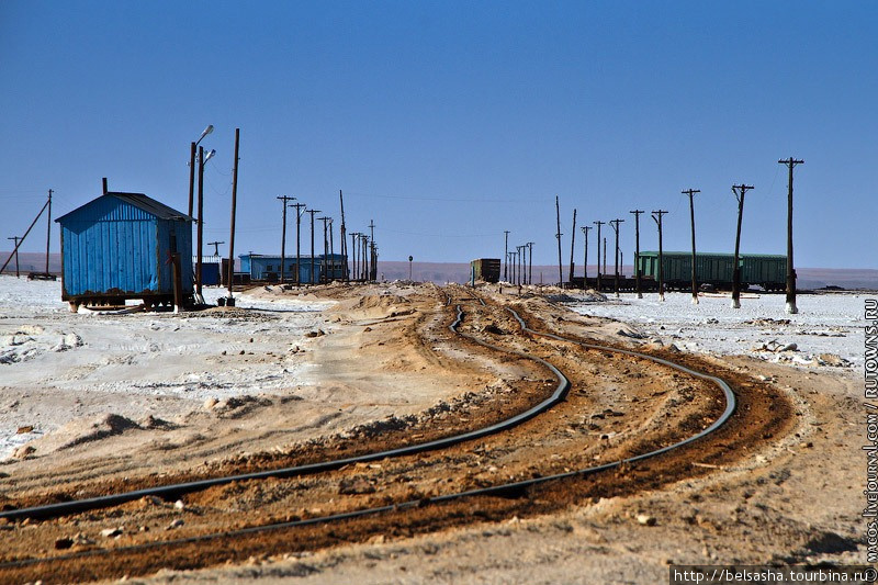
[[(264, 293), (283, 294), (289, 293)], [(171, 578), (168, 571), (206, 567), (173, 573), (173, 580), (650, 582), (666, 578), (669, 564), (862, 560), (856, 542), (862, 473), (852, 432), (859, 405), (852, 375), (668, 353), (619, 336), (618, 324), (575, 315), (540, 296), (336, 286), (320, 297), (336, 304), (324, 313), (326, 330), (319, 329), (328, 335), (309, 338), (306, 355), (319, 380), (307, 392), (228, 398), (218, 407), (205, 403), (151, 425), (120, 417), (104, 421), (111, 431), (103, 436), (88, 425), (65, 428), (0, 468), (4, 506), (337, 459), (480, 428), (528, 408), (554, 387), (543, 367), (510, 351), (547, 359), (570, 376), (572, 390), (564, 403), (511, 431), (437, 452), (319, 475), (239, 482), (179, 502), (144, 498), (67, 518), (7, 524), (0, 526), (9, 543), (3, 561), (93, 552), (7, 567), (0, 575), (23, 582), (159, 572), (148, 578), (162, 581)], [(465, 311), (461, 333), (505, 351), (451, 333), (458, 304)], [(536, 330), (637, 346), (720, 375), (732, 383), (738, 410), (719, 434), (680, 452), (515, 497), (181, 540), (583, 469), (669, 445), (722, 410), (717, 389), (701, 380), (646, 360), (526, 335), (506, 306)], [(221, 311), (230, 319), (264, 317), (212, 310)], [(290, 359), (285, 348), (262, 344), (260, 349), (222, 359)], [(324, 395), (317, 421), (311, 428), (297, 425), (303, 408), (320, 409)], [(338, 404), (334, 395), (350, 403)], [(380, 404), (376, 396), (387, 401)], [(379, 405), (393, 413), (390, 418), (362, 415)], [(359, 413), (362, 423), (350, 413)], [(168, 540), (177, 543), (159, 545)], [(153, 548), (125, 550), (147, 543)], [(232, 564), (216, 567), (226, 563)]]

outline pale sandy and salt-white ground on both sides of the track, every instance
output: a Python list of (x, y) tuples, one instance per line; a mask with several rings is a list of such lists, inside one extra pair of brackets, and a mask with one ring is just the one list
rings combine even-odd
[[(47, 283), (30, 283), (48, 292), (29, 289), (35, 301), (15, 305), (10, 297), (18, 283), (10, 280), (0, 279), (0, 429), (7, 455), (15, 450), (16, 457), (0, 465), (0, 498), (35, 490), (46, 477), (89, 482), (289, 449), (387, 415), (421, 412), (509, 374), (479, 357), (449, 368), (465, 356), (441, 339), (441, 307), (428, 288), (375, 286), (363, 291), (367, 302), (340, 289), (319, 296), (255, 290), (241, 294), (238, 306), (262, 311), (179, 317), (71, 315)], [(503, 302), (510, 300), (506, 292)], [(687, 339), (679, 314), (656, 312), (638, 322), (610, 304), (588, 304), (600, 307), (597, 316), (583, 306), (555, 303), (542, 317), (577, 335), (638, 347), (700, 344), (717, 363), (780, 389), (795, 405), (792, 430), (698, 477), (552, 515), (414, 538), (374, 535), (370, 543), (132, 581), (654, 583), (685, 563), (865, 562), (862, 370), (810, 359), (831, 352), (862, 360), (852, 344), (857, 315), (847, 324), (832, 316), (800, 325), (803, 336), (844, 335), (810, 335), (821, 346), (799, 350), (809, 359), (774, 363), (746, 347), (711, 350), (701, 337)], [(766, 327), (788, 326), (764, 320), (785, 318), (770, 307), (752, 311), (723, 326), (756, 327), (766, 338)], [(633, 327), (609, 320), (614, 316)], [(699, 335), (717, 327), (713, 338), (728, 337), (710, 322), (719, 317), (698, 319)], [(753, 319), (763, 320), (742, 325)], [(305, 337), (311, 331), (315, 336)], [(425, 331), (435, 335), (429, 352), (415, 342)], [(16, 434), (20, 428), (25, 431)], [(639, 515), (655, 524), (642, 525)], [(2, 536), (14, 538), (14, 531)]]

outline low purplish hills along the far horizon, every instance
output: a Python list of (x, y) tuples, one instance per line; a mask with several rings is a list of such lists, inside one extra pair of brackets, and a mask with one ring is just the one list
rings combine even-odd
[[(11, 250), (0, 252), (0, 266), (5, 262)], [(19, 254), (19, 266), (21, 271), (42, 272), (46, 268), (46, 255), (35, 252)], [(385, 280), (408, 279), (408, 262), (379, 261), (379, 277)], [(582, 275), (582, 265), (577, 265), (576, 275)], [(60, 274), (61, 261), (59, 254), (49, 255), (48, 270), (52, 273)], [(567, 277), (570, 266), (564, 267), (564, 278)], [(612, 268), (610, 268), (612, 271)], [(855, 269), (855, 268), (797, 268), (800, 289), (821, 289), (823, 286), (841, 286), (843, 289), (878, 290), (878, 270)], [(588, 267), (588, 273), (596, 273), (594, 266)], [(623, 267), (626, 274), (631, 274), (631, 266)], [(15, 260), (13, 259), (3, 273), (15, 273)], [(466, 282), (470, 280), (469, 262), (412, 262), (412, 277), (418, 281), (432, 281), (436, 283), (444, 282)], [(533, 282), (556, 282), (558, 266), (534, 266)]]

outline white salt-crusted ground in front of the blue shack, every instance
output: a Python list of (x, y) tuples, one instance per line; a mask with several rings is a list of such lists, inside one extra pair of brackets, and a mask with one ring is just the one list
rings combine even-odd
[[(204, 292), (209, 303), (227, 294)], [(76, 418), (177, 418), (209, 398), (283, 394), (309, 384), (314, 365), (304, 359), (230, 368), (211, 367), (210, 360), (266, 346), (305, 348), (305, 333), (330, 329), (322, 312), (335, 303), (236, 297), (239, 307), (282, 317), (282, 326), (218, 311), (72, 314), (61, 302), (59, 281), (0, 277), (0, 460)], [(33, 430), (18, 432), (23, 427)]]

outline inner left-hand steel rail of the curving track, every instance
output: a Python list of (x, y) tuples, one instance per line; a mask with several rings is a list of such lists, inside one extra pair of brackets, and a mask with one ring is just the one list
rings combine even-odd
[[(449, 296), (449, 299), (451, 297)], [(474, 300), (480, 301), (482, 305), (485, 306), (485, 302), (482, 299), (474, 297)], [(254, 473), (241, 473), (223, 477), (212, 477), (194, 482), (184, 482), (184, 483), (161, 485), (156, 487), (146, 487), (143, 490), (134, 490), (121, 494), (110, 494), (90, 498), (72, 499), (69, 502), (60, 502), (56, 504), (47, 504), (43, 506), (31, 506), (27, 508), (4, 510), (0, 511), (0, 518), (5, 518), (8, 521), (23, 520), (25, 518), (32, 518), (37, 520), (56, 518), (59, 516), (67, 516), (80, 511), (109, 508), (112, 506), (124, 504), (126, 502), (133, 502), (142, 497), (155, 496), (155, 497), (160, 497), (162, 499), (176, 499), (188, 493), (200, 492), (209, 487), (215, 487), (219, 485), (227, 485), (233, 482), (266, 480), (269, 477), (274, 477), (274, 479), (295, 477), (300, 475), (308, 475), (308, 474), (323, 473), (326, 471), (337, 470), (339, 468), (353, 463), (367, 463), (370, 461), (376, 461), (385, 458), (396, 458), (396, 457), (421, 453), (425, 451), (444, 449), (447, 447), (452, 447), (462, 443), (464, 441), (481, 439), (482, 437), (486, 437), (495, 432), (508, 430), (548, 410), (549, 408), (551, 408), (552, 406), (564, 400), (570, 390), (570, 380), (563, 373), (561, 373), (561, 371), (558, 368), (536, 356), (530, 356), (522, 351), (514, 351), (499, 348), (497, 346), (483, 342), (480, 339), (475, 338), (474, 336), (459, 331), (458, 326), (463, 320), (463, 310), (461, 308), (461, 305), (457, 306), (457, 311), (458, 311), (457, 318), (449, 326), (449, 329), (451, 331), (460, 335), (461, 337), (475, 341), (476, 344), (480, 344), (486, 348), (505, 353), (513, 353), (521, 358), (536, 361), (537, 363), (549, 369), (552, 372), (552, 374), (554, 374), (554, 376), (558, 379), (558, 386), (555, 387), (554, 392), (552, 392), (551, 396), (540, 402), (539, 404), (532, 406), (531, 408), (528, 408), (527, 410), (519, 413), (505, 420), (502, 420), (499, 423), (495, 423), (487, 427), (471, 430), (460, 435), (453, 435), (451, 437), (444, 437), (442, 439), (436, 439), (432, 441), (427, 441), (418, 445), (398, 447), (395, 449), (387, 449), (384, 451), (376, 451), (373, 453), (367, 453), (362, 455), (347, 457), (344, 459), (334, 459), (330, 461), (323, 461), (318, 463), (308, 463), (305, 465), (281, 468), (277, 470), (260, 471)]]

